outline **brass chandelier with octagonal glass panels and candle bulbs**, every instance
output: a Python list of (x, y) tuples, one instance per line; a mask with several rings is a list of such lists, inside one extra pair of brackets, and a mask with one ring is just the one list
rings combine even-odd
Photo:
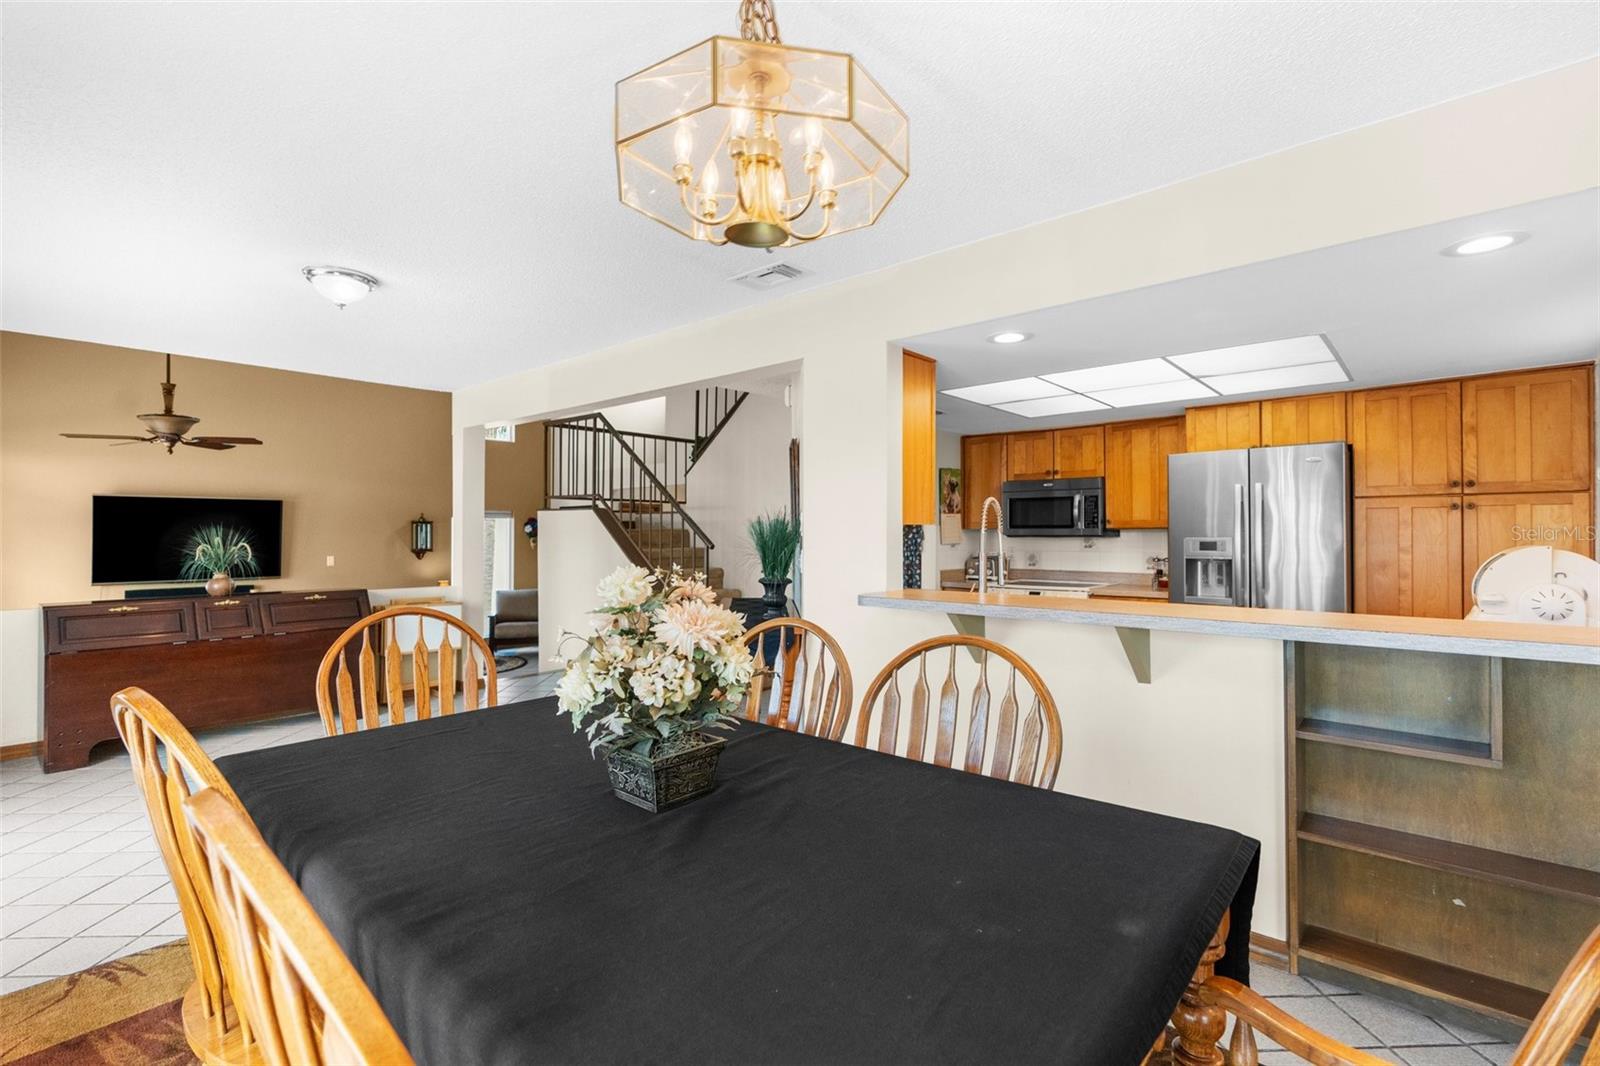
[(739, 30), (616, 83), (622, 203), (747, 248), (872, 226), (910, 174), (906, 112), (850, 54), (784, 45), (771, 0)]

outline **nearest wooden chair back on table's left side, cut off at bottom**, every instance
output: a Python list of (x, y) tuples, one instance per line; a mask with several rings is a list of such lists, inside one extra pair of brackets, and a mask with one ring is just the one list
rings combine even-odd
[(410, 1053), (245, 812), (206, 789), (186, 804), (211, 871), (238, 1002), (270, 1066), (403, 1066)]

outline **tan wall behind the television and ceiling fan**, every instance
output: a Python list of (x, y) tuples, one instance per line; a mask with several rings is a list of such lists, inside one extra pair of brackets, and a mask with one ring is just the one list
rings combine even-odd
[[(173, 359), (195, 432), (259, 437), (232, 451), (109, 447), (69, 432), (138, 432), (158, 411), (162, 355), (0, 333), (0, 608), (106, 599), (90, 584), (90, 498), (283, 499), (283, 576), (264, 587), (389, 587), (450, 576), (450, 395)], [(411, 519), (435, 551), (410, 551)], [(326, 557), (334, 565), (326, 565)]]

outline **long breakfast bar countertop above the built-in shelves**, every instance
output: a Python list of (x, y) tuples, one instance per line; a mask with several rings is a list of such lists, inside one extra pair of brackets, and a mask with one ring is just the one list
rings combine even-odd
[(1168, 602), (1134, 603), (1062, 595), (1043, 597), (1026, 592), (979, 595), (978, 592), (933, 589), (867, 592), (859, 595), (856, 602), (862, 607), (968, 618), (1054, 621), (1080, 626), (1115, 626), (1118, 631), (1198, 632), (1600, 666), (1600, 627), (1595, 626), (1541, 626)]

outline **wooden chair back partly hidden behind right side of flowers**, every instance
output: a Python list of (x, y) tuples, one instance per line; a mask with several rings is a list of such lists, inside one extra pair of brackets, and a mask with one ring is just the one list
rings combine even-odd
[[(786, 730), (838, 739), (853, 706), (850, 663), (838, 642), (803, 618), (773, 618), (744, 631), (755, 655), (755, 677), (744, 717)], [(773, 661), (766, 664), (766, 651)], [(806, 680), (811, 682), (806, 690)]]

